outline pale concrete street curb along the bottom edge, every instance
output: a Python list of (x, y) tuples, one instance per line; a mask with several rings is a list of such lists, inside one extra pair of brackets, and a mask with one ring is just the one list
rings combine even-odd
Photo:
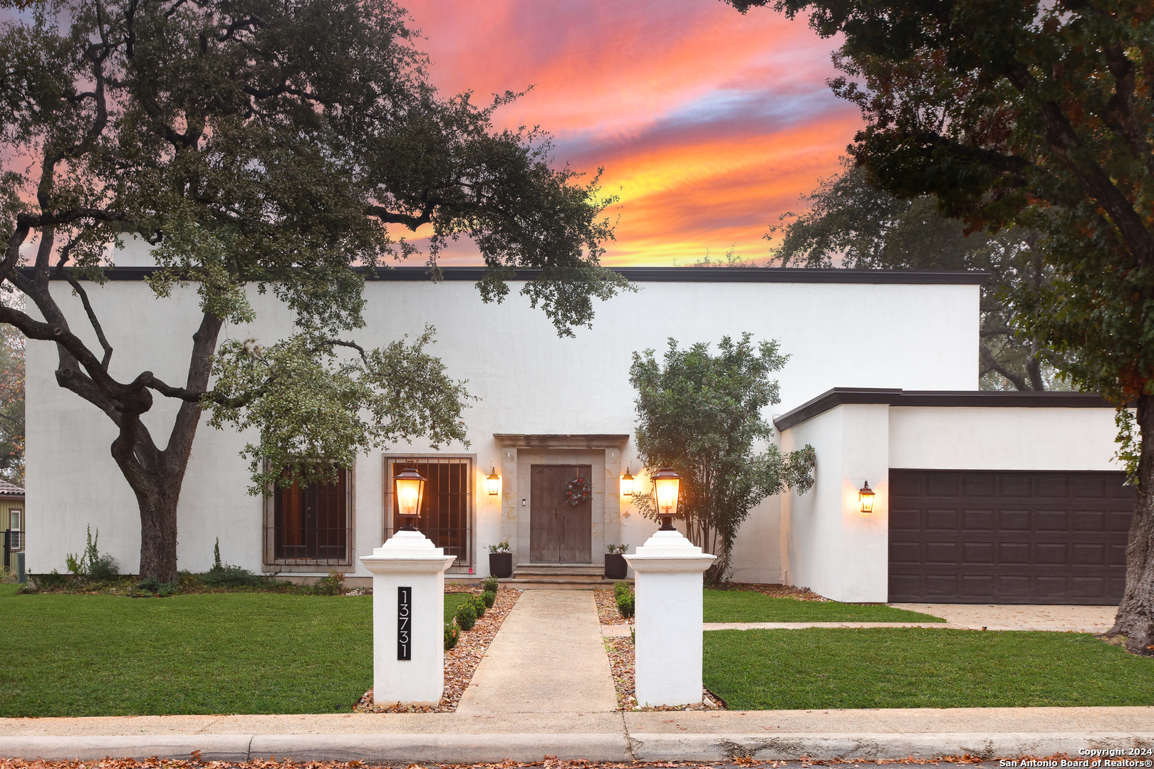
[[(974, 755), (982, 759), (1079, 757), (1081, 749), (1151, 748), (1154, 732), (1003, 732), (1003, 733), (623, 733), (593, 734), (175, 734), (132, 737), (0, 737), (0, 756), (92, 761), (117, 759), (202, 761), (253, 759), (364, 761), (368, 763), (529, 763), (547, 755), (563, 760), (820, 761), (838, 759), (930, 759)], [(1116, 754), (1116, 760), (1127, 757)], [(1129, 756), (1145, 761), (1148, 756)]]

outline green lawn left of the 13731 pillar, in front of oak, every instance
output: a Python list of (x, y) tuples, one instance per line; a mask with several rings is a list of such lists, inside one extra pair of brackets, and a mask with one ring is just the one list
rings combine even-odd
[(347, 713), (373, 685), (373, 598), (16, 595), (0, 716)]

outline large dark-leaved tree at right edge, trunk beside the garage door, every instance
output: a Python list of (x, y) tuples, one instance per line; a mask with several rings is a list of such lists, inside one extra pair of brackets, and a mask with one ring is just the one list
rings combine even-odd
[[(1111, 634), (1154, 650), (1154, 6), (1149, 0), (729, 0), (841, 36), (850, 152), (973, 229), (1042, 234), (1014, 319), (1081, 389), (1133, 402), (1137, 503)], [(1119, 420), (1126, 424), (1126, 412)], [(1123, 430), (1123, 435), (1129, 435)], [(1078, 436), (1071, 436), (1077, 440)]]

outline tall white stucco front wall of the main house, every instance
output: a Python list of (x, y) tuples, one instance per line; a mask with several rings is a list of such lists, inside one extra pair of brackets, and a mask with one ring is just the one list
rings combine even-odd
[[(630, 354), (655, 348), (660, 355), (669, 337), (683, 347), (717, 342), (724, 334), (739, 337), (743, 331), (752, 332), (756, 340), (779, 339), (792, 359), (778, 377), (784, 402), (774, 407), (775, 413), (844, 382), (847, 370), (862, 386), (976, 386), (976, 286), (644, 282), (636, 294), (598, 303), (593, 329), (578, 329), (572, 339), (557, 338), (545, 315), (516, 294), (519, 287), (511, 285), (512, 295), (503, 304), (485, 304), (469, 281), (370, 281), (367, 326), (350, 334), (375, 347), (419, 334), (426, 324), (436, 326), (432, 352), (444, 361), (450, 376), (467, 379), (470, 392), (480, 399), (465, 413), (472, 445), (445, 451), (473, 455), (478, 478), (490, 466), (502, 467), (493, 433), (631, 433)], [(193, 288), (177, 289), (166, 300), (155, 299), (141, 281), (117, 280), (88, 288), (115, 348), (114, 376), (129, 380), (151, 370), (165, 380), (183, 383), (198, 323)], [(67, 284), (54, 281), (52, 291), (69, 312), (73, 331), (96, 349), (80, 301)], [(223, 337), (255, 337), (269, 344), (287, 333), (288, 312), (275, 297), (252, 294), (257, 321), (243, 327), (226, 326)], [(863, 307), (885, 311), (862, 312)], [(108, 453), (115, 429), (95, 407), (60, 389), (54, 368), (54, 347), (29, 342), (29, 570), (63, 571), (65, 553), (81, 550), (84, 527), (91, 525), (99, 529), (102, 549), (120, 560), (122, 571), (134, 572), (140, 527), (135, 499)], [(164, 445), (175, 404), (156, 400), (144, 422)], [(226, 561), (261, 570), (262, 500), (246, 493), (246, 462), (238, 455), (250, 438), (204, 425), (198, 431), (179, 510), (182, 568), (210, 566), (212, 543), (219, 537)], [(420, 440), (395, 448), (398, 453), (428, 450)], [(819, 467), (825, 461), (819, 450)], [(638, 475), (631, 442), (622, 451), (621, 465)], [(382, 477), (380, 453), (358, 461), (357, 555), (381, 544)], [(504, 488), (502, 496), (512, 492)], [(487, 545), (504, 538), (501, 498), (478, 487), (474, 499), (475, 560), (485, 573)], [(621, 540), (640, 544), (655, 526), (627, 502), (621, 508)], [(742, 528), (735, 579), (780, 579), (779, 510), (779, 500), (767, 500)], [(600, 553), (593, 557), (599, 563)], [(359, 565), (352, 573), (367, 575)]]

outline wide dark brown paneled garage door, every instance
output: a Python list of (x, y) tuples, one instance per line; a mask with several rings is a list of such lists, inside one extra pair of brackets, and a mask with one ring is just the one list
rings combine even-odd
[(1122, 600), (1122, 473), (890, 470), (892, 603)]

